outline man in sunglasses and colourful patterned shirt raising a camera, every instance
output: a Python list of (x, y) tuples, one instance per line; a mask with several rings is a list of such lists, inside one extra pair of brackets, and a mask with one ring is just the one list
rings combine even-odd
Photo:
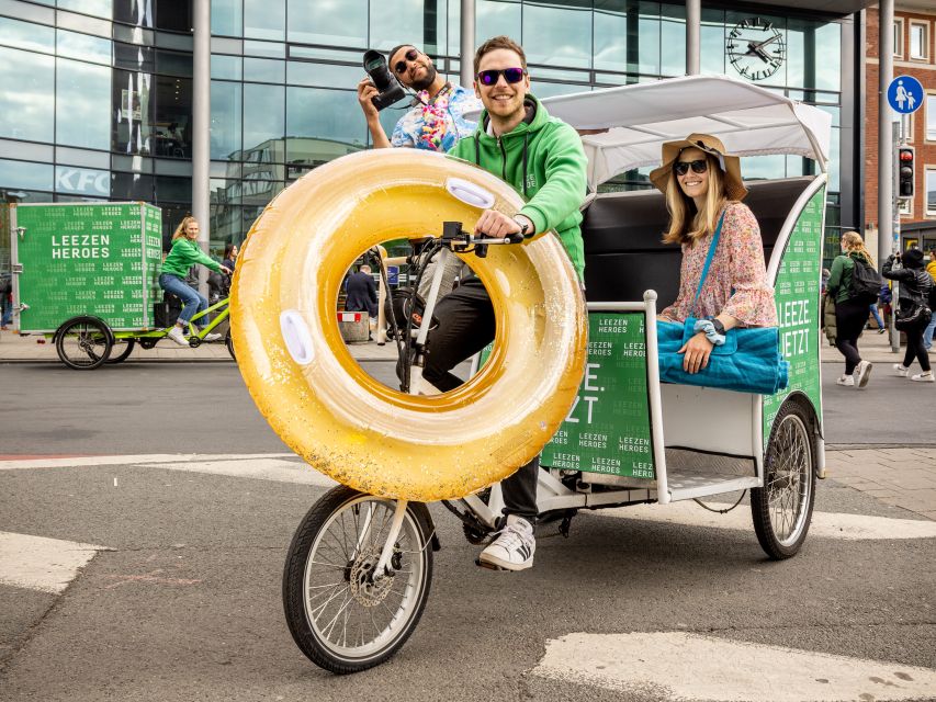
[(373, 103), (380, 94), (376, 87), (370, 78), (358, 83), (358, 102), (368, 118), (374, 148), (406, 146), (444, 152), (460, 138), (474, 132), (476, 123), (465, 120), (464, 113), (481, 109), (477, 98), (461, 86), (447, 81), (426, 54), (411, 44), (403, 44), (387, 54), (387, 63), (396, 79), (416, 91), (416, 102), (397, 121), (393, 135), (387, 139), (380, 112)]

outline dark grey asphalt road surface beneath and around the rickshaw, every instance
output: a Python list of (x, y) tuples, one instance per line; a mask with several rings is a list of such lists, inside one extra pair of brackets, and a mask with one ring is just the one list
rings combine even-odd
[[(392, 373), (388, 363), (369, 367)], [(15, 364), (0, 374), (2, 454), (285, 452), (233, 365), (140, 363), (76, 373)], [(860, 393), (827, 388), (827, 441), (895, 443), (890, 432), (920, 421), (934, 389), (877, 376)], [(878, 417), (876, 408), (902, 390), (920, 393), (914, 401), (922, 405)], [(577, 517), (568, 539), (542, 526), (535, 568), (505, 574), (477, 568), (478, 547), (433, 505), (442, 550), (419, 626), (387, 664), (335, 677), (295, 646), (281, 604), (290, 541), (325, 487), (158, 464), (77, 463), (0, 469), (0, 534), (109, 548), (60, 595), (0, 584), (4, 702), (668, 699), (663, 689), (621, 691), (543, 675), (544, 652), (576, 632), (691, 633), (794, 648), (830, 667), (835, 659), (827, 655), (856, 658), (859, 668), (872, 659), (900, 676), (918, 675), (911, 666), (936, 667), (934, 539), (811, 534), (794, 558), (774, 563), (751, 528), (597, 511)], [(832, 479), (819, 485), (815, 510), (917, 519)], [(596, 648), (602, 655), (610, 654)], [(634, 665), (647, 656), (634, 653)], [(797, 672), (782, 665), (778, 658), (770, 675)], [(737, 677), (754, 675), (751, 667), (738, 660)], [(903, 699), (890, 679), (866, 675), (862, 684), (865, 700)], [(833, 693), (808, 699), (838, 699)]]

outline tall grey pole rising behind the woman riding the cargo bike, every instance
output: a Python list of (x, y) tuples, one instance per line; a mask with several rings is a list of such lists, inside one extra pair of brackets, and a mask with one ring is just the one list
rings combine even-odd
[[(192, 23), (192, 215), (199, 220), (201, 228), (199, 245), (207, 253), (211, 240), (211, 0), (194, 1)], [(208, 296), (208, 271), (204, 265), (199, 267), (199, 292), (205, 297)]]

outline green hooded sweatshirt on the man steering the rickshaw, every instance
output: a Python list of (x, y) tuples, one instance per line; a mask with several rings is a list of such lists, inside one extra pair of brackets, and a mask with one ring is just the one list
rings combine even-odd
[[(588, 160), (578, 133), (559, 117), (551, 117), (540, 101), (528, 94), (535, 106), (532, 120), (514, 127), (499, 138), (486, 132), (489, 117), (482, 111), (477, 129), (459, 139), (450, 156), (477, 163), (523, 195), (520, 210), (535, 231), (555, 229), (578, 273), (585, 275), (582, 244), (582, 205), (587, 193)], [(526, 184), (526, 190), (523, 185)]]

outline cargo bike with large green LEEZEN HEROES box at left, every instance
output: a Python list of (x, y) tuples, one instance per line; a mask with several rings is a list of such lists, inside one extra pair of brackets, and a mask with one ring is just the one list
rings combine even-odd
[[(161, 215), (145, 203), (13, 205), (10, 211), (16, 327), (55, 344), (69, 369), (90, 371), (153, 349), (172, 328), (158, 284)], [(224, 329), (227, 297), (190, 325), (189, 344)], [(234, 355), (230, 331), (222, 337)]]

